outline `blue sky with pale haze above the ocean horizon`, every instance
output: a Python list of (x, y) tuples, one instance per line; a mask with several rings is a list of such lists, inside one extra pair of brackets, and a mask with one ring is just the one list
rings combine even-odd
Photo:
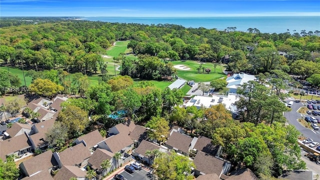
[(0, 16), (320, 15), (320, 0), (0, 0)]

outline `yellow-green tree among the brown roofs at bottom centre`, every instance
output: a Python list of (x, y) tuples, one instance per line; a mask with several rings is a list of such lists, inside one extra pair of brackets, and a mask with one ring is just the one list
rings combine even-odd
[(148, 127), (148, 137), (157, 141), (164, 142), (169, 130), (169, 122), (163, 117), (152, 117), (146, 124)]

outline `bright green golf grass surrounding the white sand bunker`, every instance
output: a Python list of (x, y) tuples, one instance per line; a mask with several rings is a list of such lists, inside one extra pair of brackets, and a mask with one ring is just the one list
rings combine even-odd
[[(189, 70), (177, 69), (177, 72), (178, 72), (177, 75), (185, 80), (194, 80), (195, 82), (207, 82), (207, 81), (211, 81), (211, 80), (225, 76), (225, 74), (223, 73), (223, 69), (221, 70), (220, 65), (217, 65), (215, 67), (215, 72), (214, 72), (214, 67), (212, 62), (205, 62), (202, 64), (203, 67), (211, 69), (210, 73), (206, 73), (205, 71), (204, 73), (202, 73), (202, 70), (201, 70), (201, 73), (198, 73), (196, 68), (199, 67), (200, 63), (194, 60), (172, 61), (172, 64), (173, 65), (181, 64), (190, 68)], [(224, 67), (222, 66), (222, 68)]]

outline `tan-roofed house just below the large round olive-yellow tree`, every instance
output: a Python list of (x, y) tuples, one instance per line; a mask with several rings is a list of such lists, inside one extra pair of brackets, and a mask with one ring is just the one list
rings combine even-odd
[(81, 135), (80, 137), (76, 138), (73, 143), (83, 143), (85, 146), (90, 150), (93, 151), (98, 146), (97, 144), (103, 141), (103, 137), (101, 136), (99, 130), (94, 130), (87, 134)]

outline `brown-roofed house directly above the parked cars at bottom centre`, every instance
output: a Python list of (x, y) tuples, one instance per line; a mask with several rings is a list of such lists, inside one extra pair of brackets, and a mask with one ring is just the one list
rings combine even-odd
[[(160, 152), (168, 152), (168, 149), (165, 146), (159, 146), (152, 142), (142, 140), (139, 146), (132, 150), (132, 155), (138, 157), (141, 161), (146, 162), (148, 164), (153, 163), (154, 156), (151, 154), (150, 156), (146, 155), (145, 152), (147, 150), (154, 150), (157, 149)], [(150, 159), (150, 162), (149, 162)]]

